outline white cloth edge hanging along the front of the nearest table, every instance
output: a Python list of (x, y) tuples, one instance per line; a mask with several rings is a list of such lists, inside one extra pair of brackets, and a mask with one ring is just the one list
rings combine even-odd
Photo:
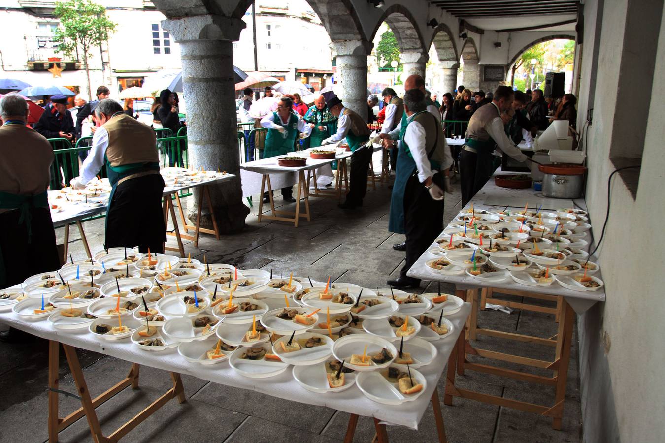
[[(340, 393), (325, 395), (312, 393), (301, 387), (293, 379), (293, 367), (288, 367), (285, 372), (269, 379), (249, 379), (235, 373), (227, 361), (211, 366), (198, 365), (186, 361), (178, 354), (176, 349), (167, 349), (160, 352), (144, 351), (134, 345), (129, 338), (119, 341), (106, 341), (94, 337), (87, 329), (78, 332), (55, 329), (47, 319), (26, 321), (9, 311), (0, 313), (0, 322), (45, 339), (57, 340), (80, 349), (88, 349), (132, 363), (180, 374), (194, 375), (199, 379), (212, 381), (220, 385), (250, 389), (280, 399), (327, 406), (351, 414), (372, 416), (386, 422), (386, 424), (398, 424), (417, 429), (434, 388), (444, 371), (444, 366), (448, 361), (448, 357), (450, 357), (455, 341), (470, 312), (470, 304), (465, 303), (460, 311), (446, 317), (453, 323), (454, 331), (445, 339), (431, 342), (438, 349), (438, 355), (430, 365), (418, 369), (427, 379), (424, 393), (418, 399), (400, 406), (388, 406), (369, 400), (364, 397), (357, 386)], [(46, 365), (47, 362), (44, 362), (44, 364)], [(46, 405), (44, 406), (46, 407)]]

